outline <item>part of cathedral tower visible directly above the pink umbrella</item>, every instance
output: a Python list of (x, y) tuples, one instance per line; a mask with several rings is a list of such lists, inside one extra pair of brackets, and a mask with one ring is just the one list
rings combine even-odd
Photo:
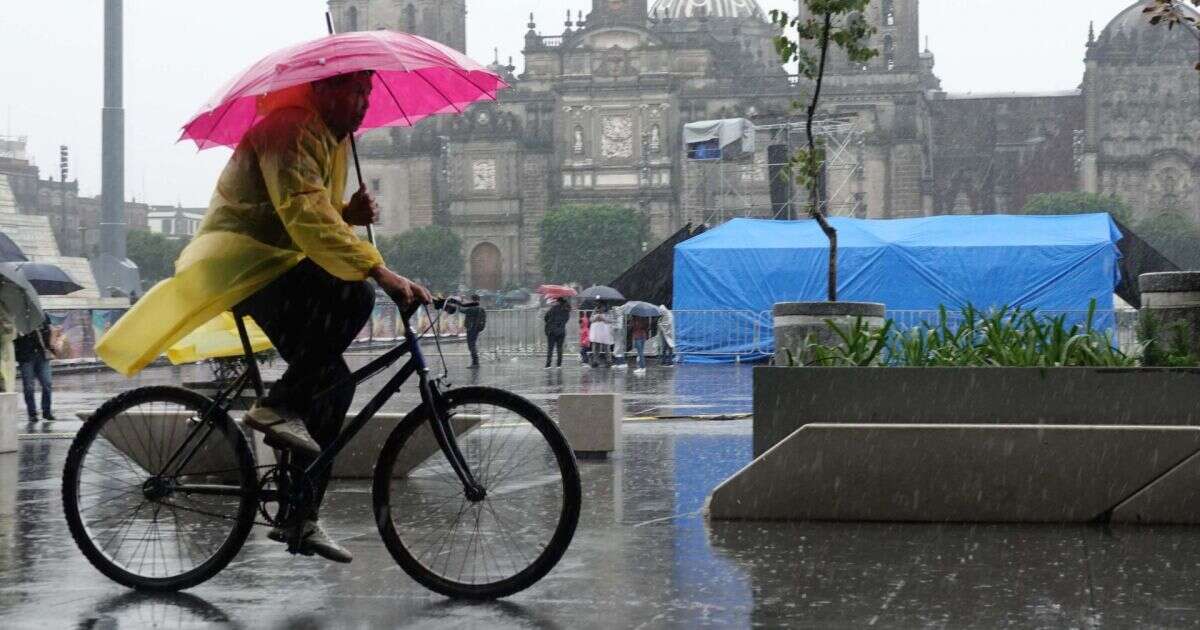
[(329, 0), (337, 31), (412, 32), (467, 49), (467, 0)]

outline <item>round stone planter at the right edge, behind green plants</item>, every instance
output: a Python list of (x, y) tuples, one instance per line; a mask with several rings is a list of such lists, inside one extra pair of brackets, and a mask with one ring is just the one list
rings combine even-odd
[(1141, 332), (1152, 331), (1159, 342), (1157, 352), (1146, 356), (1147, 362), (1156, 364), (1153, 355), (1176, 349), (1200, 356), (1200, 271), (1142, 274), (1138, 284)]

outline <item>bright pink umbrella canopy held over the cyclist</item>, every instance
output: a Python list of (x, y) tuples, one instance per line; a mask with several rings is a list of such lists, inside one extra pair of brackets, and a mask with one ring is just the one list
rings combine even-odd
[(508, 88), (494, 72), (438, 42), (385, 30), (343, 32), (262, 59), (210, 98), (184, 126), (180, 140), (193, 140), (200, 149), (236, 146), (260, 120), (263, 96), (365, 70), (374, 71), (374, 78), (360, 133), (410, 127), (434, 114), (461, 114), (475, 101), (494, 101)]

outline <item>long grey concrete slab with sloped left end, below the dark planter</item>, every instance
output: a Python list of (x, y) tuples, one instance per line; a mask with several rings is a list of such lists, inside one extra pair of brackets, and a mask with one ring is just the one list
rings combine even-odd
[(1091, 522), (1200, 450), (1196, 427), (806, 425), (714, 520)]

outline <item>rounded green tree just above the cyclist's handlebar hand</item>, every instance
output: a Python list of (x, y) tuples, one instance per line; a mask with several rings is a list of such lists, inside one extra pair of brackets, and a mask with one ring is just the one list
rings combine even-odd
[(462, 239), (440, 226), (414, 228), (379, 238), (379, 253), (388, 266), (433, 290), (455, 290), (466, 262)]

